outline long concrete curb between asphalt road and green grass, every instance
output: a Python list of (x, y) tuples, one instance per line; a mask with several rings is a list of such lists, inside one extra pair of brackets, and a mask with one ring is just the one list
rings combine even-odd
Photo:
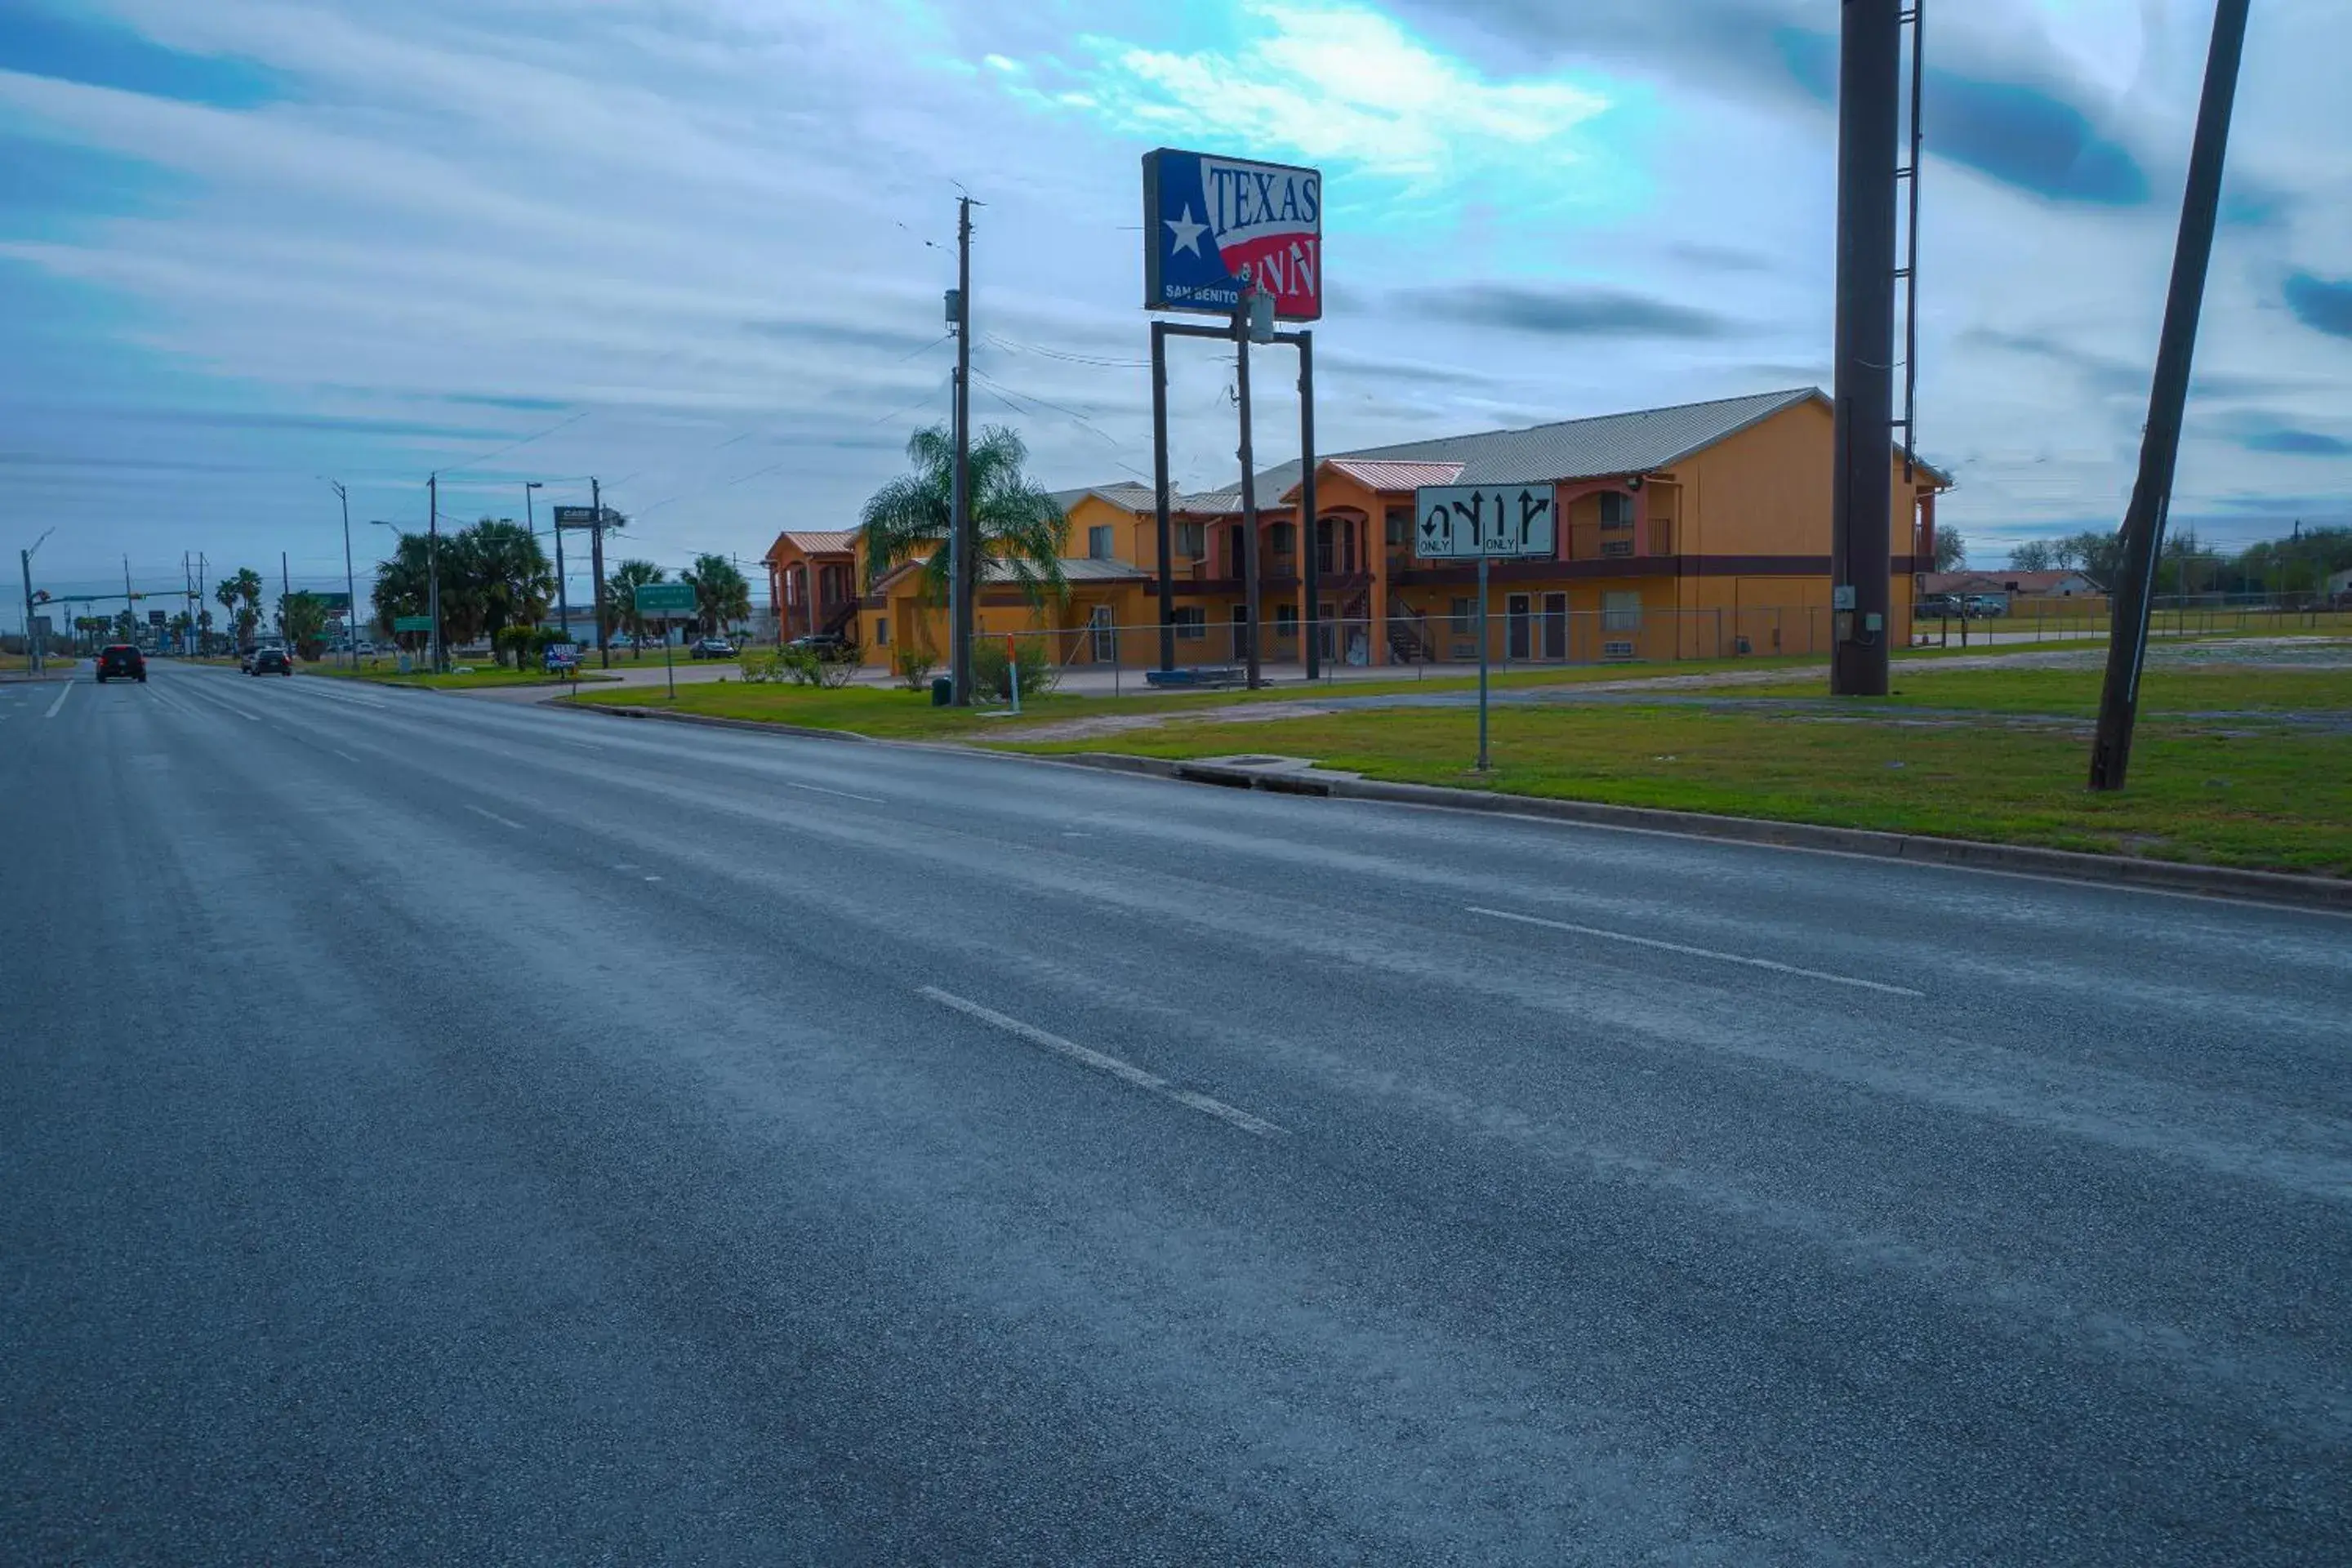
[(920, 750), (962, 750), (993, 757), (1054, 762), (1138, 773), (1183, 783), (1223, 785), (1230, 790), (1265, 790), (1275, 795), (1312, 795), (1322, 799), (1369, 799), (1392, 806), (1435, 806), (1442, 811), (1484, 811), (1489, 816), (1543, 818), (1588, 827), (1668, 832), (1684, 839), (1722, 839), (1773, 849), (1818, 849), (1877, 860), (1915, 865), (1955, 865), (1985, 872), (2058, 877), (2105, 886), (2136, 886), (2161, 893), (2199, 893), (2204, 898), (2239, 898), (2251, 903), (2336, 910), (2352, 914), (2352, 879), (2296, 877), (2288, 872), (2249, 872), (2227, 865), (2185, 865), (2178, 860), (2129, 860), (2124, 856), (2089, 856), (2072, 849), (2034, 849), (2030, 844), (1985, 844), (1983, 839), (1938, 839), (1912, 832), (1877, 832), (1870, 827), (1818, 827), (1811, 823), (1776, 823), (1748, 816), (1710, 816), (1705, 811), (1661, 811), (1656, 806), (1606, 806), (1583, 799), (1545, 799), (1541, 795), (1501, 795), (1489, 790), (1449, 790), (1444, 785), (1383, 783), (1355, 773), (1317, 773), (1312, 769), (1244, 769), (1216, 762), (1174, 762), (1167, 757), (1131, 757), (1127, 752), (985, 752), (969, 745), (931, 741), (877, 741), (847, 729), (809, 729), (800, 724), (764, 724), (760, 719), (717, 719), (699, 712), (663, 712), (659, 708), (623, 708), (616, 703), (560, 703), (574, 712), (607, 712), (628, 719), (663, 719), (668, 724), (708, 724), (769, 736), (804, 736), (814, 741), (856, 741), (863, 745), (906, 745)]

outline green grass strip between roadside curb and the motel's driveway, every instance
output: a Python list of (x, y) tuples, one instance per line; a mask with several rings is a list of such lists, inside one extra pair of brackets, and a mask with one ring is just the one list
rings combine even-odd
[(1018, 750), (1148, 757), (1275, 752), (1369, 778), (1715, 811), (2098, 853), (2352, 875), (2352, 736), (2140, 726), (2131, 788), (2084, 790), (2086, 726), (1884, 724), (1708, 708), (1496, 708), (1491, 773), (1475, 710), (1374, 710), (1183, 724)]

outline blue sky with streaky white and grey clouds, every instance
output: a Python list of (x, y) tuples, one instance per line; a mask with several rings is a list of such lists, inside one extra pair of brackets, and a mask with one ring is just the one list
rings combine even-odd
[[(946, 409), (1150, 470), (1138, 155), (1327, 172), (1327, 449), (1828, 386), (1828, 0), (0, 0), (0, 545), (42, 583), (586, 501), (630, 552), (849, 527)], [(2112, 527), (2206, 0), (1933, 7), (1919, 440), (1947, 517)], [(2352, 7), (2256, 9), (2173, 515), (2352, 517)], [(1181, 346), (1181, 484), (1230, 353)], [(1291, 447), (1261, 374), (1261, 458)], [(541, 520), (543, 522), (543, 520)], [(14, 597), (14, 595), (9, 595)], [(14, 625), (14, 611), (5, 616)]]

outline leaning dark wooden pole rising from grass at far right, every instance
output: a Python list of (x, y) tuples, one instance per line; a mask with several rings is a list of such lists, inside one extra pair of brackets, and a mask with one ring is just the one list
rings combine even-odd
[(2249, 0), (2220, 0), (2213, 7), (2213, 42), (2206, 49), (2197, 136), (2190, 141), (2190, 181), (2180, 200), (2180, 237), (2173, 244), (2173, 282), (2164, 296), (2157, 376), (2147, 390), (2147, 428), (2140, 435), (2140, 475), (2131, 484), (2131, 508), (2124, 512), (2124, 571), (2114, 583), (2107, 682), (2100, 689), (2098, 733), (2091, 741), (2093, 790), (2122, 790), (2131, 766), (2131, 729), (2140, 717), (2140, 668), (2147, 663), (2147, 611), (2164, 548), (2164, 520), (2173, 505), (2180, 411), (2190, 397), (2197, 313), (2204, 306), (2206, 263), (2213, 259), (2213, 219), (2220, 212), (2220, 167), (2230, 146), (2230, 108), (2237, 101), (2237, 59), (2246, 47), (2246, 7)]

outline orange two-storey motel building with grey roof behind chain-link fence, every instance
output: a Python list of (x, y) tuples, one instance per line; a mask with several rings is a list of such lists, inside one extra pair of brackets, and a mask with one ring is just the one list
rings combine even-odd
[[(1792, 388), (1322, 454), (1312, 529), (1298, 517), (1298, 463), (1256, 477), (1256, 541), (1237, 484), (1171, 494), (1178, 658), (1235, 656), (1247, 635), (1244, 555), (1254, 548), (1268, 661), (1303, 654), (1308, 550), (1324, 658), (1475, 661), (1475, 564), (1414, 552), (1414, 491), (1423, 484), (1541, 484), (1552, 494), (1552, 555), (1491, 569), (1486, 639), (1498, 658), (1828, 649), (1832, 425), (1818, 388)], [(1917, 461), (1905, 475), (1896, 451), (1886, 480), (1891, 625), (1907, 628), (1915, 571), (1936, 555), (1936, 496), (1950, 477)], [(1054, 498), (1068, 520), (1068, 599), (1035, 609), (1004, 562), (985, 562), (976, 628), (1051, 632), (1056, 663), (1155, 663), (1160, 529), (1150, 487), (1096, 484)], [(875, 571), (856, 531), (779, 534), (767, 564), (786, 635), (837, 630), (875, 665), (898, 646), (946, 649), (946, 611), (924, 590), (920, 562)]]

